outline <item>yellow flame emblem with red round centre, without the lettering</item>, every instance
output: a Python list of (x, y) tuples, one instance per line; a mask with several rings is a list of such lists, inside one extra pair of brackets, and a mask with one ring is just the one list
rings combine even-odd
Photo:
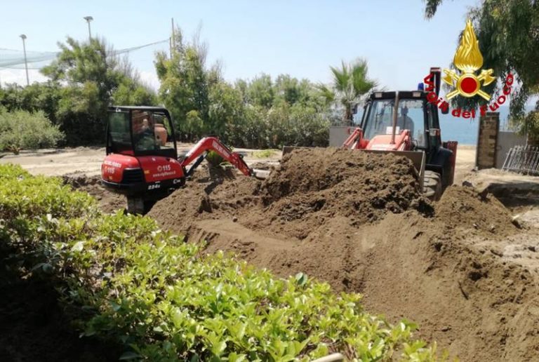
[[(495, 81), (496, 77), (493, 76), (492, 69), (483, 69), (479, 76), (475, 75), (477, 69), (483, 66), (483, 55), (479, 51), (479, 41), (475, 36), (474, 27), (472, 22), (467, 20), (466, 28), (462, 39), (460, 39), (460, 46), (458, 46), (455, 58), (453, 58), (453, 64), (460, 70), (460, 76), (452, 69), (444, 69), (444, 82), (456, 89), (446, 94), (446, 98), (450, 100), (455, 95), (462, 95), (463, 97), (473, 97), (474, 95), (480, 95), (485, 100), (490, 100), (491, 95), (481, 90), (482, 86), (488, 86), (488, 84)], [(481, 84), (482, 82), (482, 84)]]

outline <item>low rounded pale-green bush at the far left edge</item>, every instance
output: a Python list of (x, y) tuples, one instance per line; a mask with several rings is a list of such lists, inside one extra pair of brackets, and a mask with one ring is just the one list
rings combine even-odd
[(0, 150), (18, 154), (20, 149), (54, 147), (64, 134), (43, 112), (6, 112), (0, 108)]

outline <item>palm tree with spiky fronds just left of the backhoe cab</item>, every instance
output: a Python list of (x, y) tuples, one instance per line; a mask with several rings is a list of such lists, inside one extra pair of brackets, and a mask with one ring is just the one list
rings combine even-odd
[(376, 81), (367, 78), (367, 61), (357, 59), (350, 64), (344, 61), (340, 68), (330, 67), (333, 73), (333, 84), (330, 87), (320, 84), (320, 95), (328, 104), (339, 102), (345, 109), (344, 119), (350, 123), (353, 121), (354, 107), (357, 107), (361, 95), (368, 93), (377, 86)]

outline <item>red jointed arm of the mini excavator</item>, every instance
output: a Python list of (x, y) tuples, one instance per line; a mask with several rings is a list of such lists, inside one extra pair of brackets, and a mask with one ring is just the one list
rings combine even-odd
[(232, 152), (227, 146), (223, 145), (218, 138), (215, 137), (205, 137), (197, 142), (197, 145), (187, 152), (185, 158), (180, 161), (182, 166), (187, 168), (189, 163), (193, 165), (187, 170), (186, 175), (191, 175), (195, 168), (206, 158), (206, 155), (209, 151), (217, 152), (223, 159), (227, 160), (235, 168), (241, 171), (246, 176), (253, 175), (253, 170), (247, 166), (244, 159), (241, 157), (241, 154), (237, 152)]

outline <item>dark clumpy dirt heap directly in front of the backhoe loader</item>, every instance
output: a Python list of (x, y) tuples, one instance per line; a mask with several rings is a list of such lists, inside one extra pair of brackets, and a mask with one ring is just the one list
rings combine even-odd
[(265, 205), (286, 220), (325, 210), (355, 224), (408, 208), (431, 212), (410, 160), (345, 149), (296, 149), (262, 185)]

